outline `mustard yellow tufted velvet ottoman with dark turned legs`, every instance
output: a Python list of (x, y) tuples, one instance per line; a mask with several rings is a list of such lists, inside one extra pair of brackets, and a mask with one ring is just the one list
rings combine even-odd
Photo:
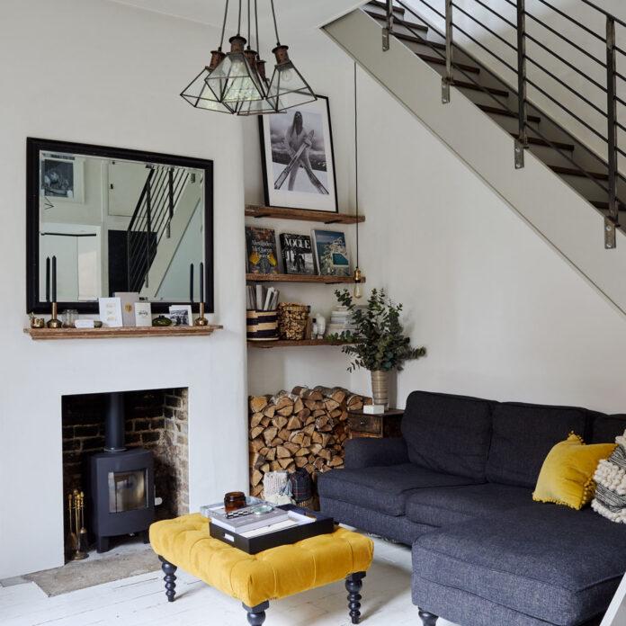
[(371, 539), (335, 526), (335, 532), (247, 554), (209, 533), (201, 514), (150, 526), (150, 543), (163, 563), (165, 595), (174, 601), (176, 568), (183, 568), (244, 605), (247, 620), (260, 626), (270, 600), (345, 578), (353, 624), (361, 616), (362, 578), (371, 565)]

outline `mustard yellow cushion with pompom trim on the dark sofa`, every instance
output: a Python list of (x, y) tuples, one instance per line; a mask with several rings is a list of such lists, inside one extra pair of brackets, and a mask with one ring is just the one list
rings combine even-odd
[(580, 510), (594, 497), (598, 462), (608, 459), (613, 450), (614, 443), (586, 445), (582, 437), (570, 433), (548, 452), (532, 499)]

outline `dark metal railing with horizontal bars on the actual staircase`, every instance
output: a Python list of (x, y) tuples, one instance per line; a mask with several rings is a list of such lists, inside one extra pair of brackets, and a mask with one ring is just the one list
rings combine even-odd
[[(619, 18), (617, 18), (612, 13), (604, 10), (600, 6), (597, 6), (591, 0), (580, 0), (581, 4), (586, 4), (593, 11), (601, 13), (606, 22), (606, 31), (602, 34), (593, 31), (586, 24), (579, 22), (577, 19), (568, 15), (568, 13), (564, 13), (558, 7), (551, 4), (548, 0), (536, 0), (542, 6), (544, 6), (549, 12), (552, 18), (558, 17), (561, 20), (565, 20), (570, 24), (573, 24), (577, 31), (582, 31), (581, 40), (575, 41), (568, 38), (563, 32), (559, 32), (557, 28), (550, 26), (545, 20), (542, 20), (537, 15), (529, 12), (526, 8), (526, 0), (502, 0), (505, 4), (510, 5), (514, 8), (516, 13), (515, 22), (507, 19), (503, 14), (498, 13), (494, 8), (482, 2), (482, 0), (470, 0), (471, 2), (477, 4), (482, 9), (486, 10), (488, 13), (494, 15), (498, 20), (503, 22), (506, 26), (510, 27), (514, 30), (516, 34), (516, 42), (515, 45), (508, 40), (505, 40), (504, 37), (499, 35), (493, 28), (489, 28), (487, 24), (481, 22), (475, 15), (472, 15), (470, 11), (463, 8), (460, 4), (455, 2), (454, 0), (441, 0), (443, 2), (443, 11), (440, 11), (433, 4), (428, 2), (428, 0), (414, 0), (415, 2), (419, 2), (420, 4), (425, 5), (426, 9), (435, 15), (437, 15), (443, 21), (443, 30), (434, 27), (431, 22), (426, 22), (425, 18), (422, 17), (419, 13), (408, 5), (403, 0), (386, 0), (385, 7), (385, 18), (386, 25), (383, 29), (383, 50), (389, 49), (389, 38), (395, 34), (394, 32), (394, 5), (402, 7), (405, 13), (409, 13), (416, 17), (420, 22), (427, 23), (428, 27), (436, 32), (443, 40), (445, 40), (445, 53), (443, 53), (440, 49), (433, 45), (433, 42), (428, 40), (424, 34), (419, 33), (415, 29), (412, 29), (410, 23), (405, 20), (398, 20), (402, 26), (402, 28), (407, 29), (411, 33), (411, 36), (416, 38), (419, 43), (430, 47), (436, 55), (438, 55), (442, 60), (445, 61), (446, 71), (445, 76), (442, 79), (442, 101), (443, 103), (450, 102), (450, 86), (454, 85), (454, 73), (457, 72), (467, 78), (473, 85), (476, 86), (477, 89), (482, 91), (484, 94), (487, 94), (488, 97), (493, 99), (498, 106), (502, 107), (506, 112), (514, 114), (518, 119), (518, 130), (517, 137), (514, 140), (514, 165), (516, 169), (523, 168), (523, 154), (526, 148), (528, 148), (528, 134), (532, 133), (533, 136), (543, 140), (547, 146), (556, 150), (560, 156), (566, 159), (571, 165), (574, 165), (577, 171), (581, 174), (584, 174), (586, 178), (595, 184), (596, 187), (599, 187), (608, 198), (608, 215), (604, 217), (604, 247), (606, 249), (613, 249), (616, 245), (615, 238), (615, 230), (620, 226), (619, 222), (619, 209), (622, 201), (619, 197), (618, 192), (618, 181), (626, 181), (626, 177), (622, 176), (618, 171), (618, 157), (620, 155), (626, 156), (626, 151), (618, 145), (618, 130), (626, 130), (626, 126), (624, 126), (618, 120), (618, 104), (622, 104), (626, 106), (626, 101), (624, 101), (618, 94), (618, 80), (622, 81), (626, 85), (626, 76), (622, 75), (617, 70), (617, 55), (621, 54), (626, 57), (626, 50), (620, 48), (617, 45), (616, 41), (616, 25), (626, 28), (626, 22), (623, 22)], [(469, 19), (471, 22), (475, 23), (480, 27), (480, 29), (486, 31), (490, 36), (495, 37), (496, 40), (503, 43), (507, 49), (511, 49), (515, 53), (516, 57), (516, 67), (514, 67), (511, 63), (507, 62), (504, 58), (496, 54), (496, 52), (492, 49), (489, 49), (485, 46), (478, 37), (475, 37), (470, 34), (469, 31), (463, 29), (461, 24), (454, 21), (455, 15), (457, 13), (461, 13), (464, 18)], [(545, 43), (538, 39), (538, 37), (531, 34), (527, 29), (526, 20), (530, 20), (533, 23), (541, 26), (542, 29), (551, 33), (562, 41), (571, 49), (577, 50), (578, 53), (583, 54), (586, 58), (593, 60), (596, 65), (602, 67), (605, 72), (605, 81), (604, 84), (595, 80), (592, 76), (589, 76), (585, 71), (583, 71), (580, 67), (577, 67), (575, 62), (568, 60), (565, 58), (563, 54), (557, 53), (552, 47), (550, 43)], [(491, 71), (488, 67), (485, 67), (484, 63), (478, 61), (478, 59), (472, 55), (467, 49), (461, 48), (456, 40), (454, 40), (455, 31), (460, 32), (465, 38), (470, 40), (473, 44), (478, 46), (478, 48), (487, 52), (493, 58), (501, 63), (504, 67), (509, 69), (514, 76), (516, 77), (517, 88), (516, 91), (507, 83), (501, 76), (498, 76), (495, 72)], [(594, 54), (589, 52), (585, 47), (585, 41), (583, 37), (588, 40), (591, 37), (593, 40), (597, 40), (603, 43), (606, 49), (606, 58), (605, 60), (597, 58)], [(588, 85), (592, 85), (595, 89), (599, 89), (606, 96), (606, 106), (602, 108), (597, 104), (593, 103), (585, 94), (582, 94), (579, 90), (577, 90), (572, 85), (568, 85), (566, 81), (556, 76), (555, 73), (551, 72), (550, 69), (545, 67), (545, 65), (539, 62), (536, 58), (532, 58), (526, 49), (527, 41), (532, 41), (533, 44), (538, 46), (544, 52), (550, 54), (551, 58), (556, 59), (565, 67), (568, 67), (569, 70), (572, 70), (577, 74), (577, 76), (581, 76), (586, 80)], [(487, 72), (489, 76), (492, 76), (502, 85), (511, 91), (512, 94), (515, 95), (517, 99), (516, 111), (511, 109), (508, 106), (508, 103), (503, 102), (495, 94), (491, 94), (488, 89), (478, 83), (473, 76), (463, 70), (462, 67), (454, 60), (454, 51), (458, 49), (462, 52), (462, 54), (470, 58), (474, 63), (480, 67), (481, 71)], [(559, 100), (558, 95), (554, 93), (550, 93), (549, 89), (538, 84), (537, 81), (529, 78), (528, 76), (528, 65), (532, 65), (545, 75), (548, 76), (554, 83), (560, 85), (561, 87), (568, 90), (569, 93), (576, 96), (577, 100), (581, 103), (584, 103), (586, 107), (589, 108), (590, 111), (595, 112), (598, 115), (601, 115), (605, 120), (605, 127), (603, 130), (598, 130), (592, 123), (583, 119), (583, 117), (576, 112), (573, 112), (568, 106), (562, 103)], [(532, 89), (536, 90), (539, 94), (545, 96), (550, 103), (555, 104), (559, 109), (568, 114), (573, 120), (577, 121), (577, 123), (581, 124), (586, 130), (592, 133), (596, 138), (600, 139), (603, 144), (605, 144), (606, 149), (606, 159), (604, 157), (599, 156), (595, 150), (586, 147), (586, 145), (579, 141), (579, 139), (573, 135), (568, 129), (563, 128), (562, 124), (558, 122), (554, 122), (557, 126), (559, 126), (560, 130), (562, 130), (570, 139), (573, 139), (577, 142), (577, 145), (583, 148), (586, 151), (586, 154), (592, 156), (599, 164), (601, 164), (604, 168), (606, 168), (608, 172), (608, 180), (606, 185), (597, 180), (597, 178), (592, 174), (592, 172), (585, 166), (581, 165), (577, 162), (573, 156), (566, 154), (563, 150), (561, 150), (558, 146), (555, 145), (553, 141), (551, 141), (548, 137), (546, 137), (541, 130), (532, 126), (532, 123), (529, 121), (528, 116), (528, 106), (532, 105), (533, 109), (541, 112), (541, 115), (550, 119), (550, 116), (546, 115), (541, 111), (540, 107), (535, 103), (529, 101), (527, 90), (528, 87), (531, 86)]]

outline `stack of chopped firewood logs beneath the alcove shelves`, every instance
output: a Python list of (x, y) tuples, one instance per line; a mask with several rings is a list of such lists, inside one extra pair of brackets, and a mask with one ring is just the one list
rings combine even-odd
[(294, 387), (291, 393), (250, 398), (250, 494), (263, 497), (268, 471), (309, 474), (344, 466), (348, 411), (360, 411), (371, 398), (341, 387)]

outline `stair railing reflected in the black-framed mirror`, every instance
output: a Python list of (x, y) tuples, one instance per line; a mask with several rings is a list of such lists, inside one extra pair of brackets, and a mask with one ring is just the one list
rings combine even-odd
[(171, 236), (171, 223), (190, 173), (187, 169), (149, 165), (150, 173), (127, 229), (128, 290), (149, 285), (149, 272), (158, 246)]

